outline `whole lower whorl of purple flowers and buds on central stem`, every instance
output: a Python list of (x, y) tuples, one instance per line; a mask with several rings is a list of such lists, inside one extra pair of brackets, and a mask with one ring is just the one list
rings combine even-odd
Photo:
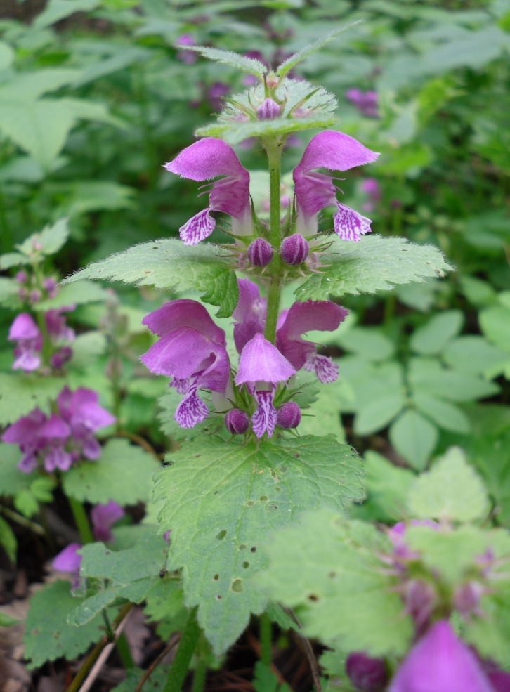
[[(285, 401), (285, 386), (303, 368), (322, 383), (338, 377), (338, 367), (317, 353), (316, 345), (302, 339), (308, 331), (333, 331), (347, 311), (330, 301), (294, 303), (280, 313), (275, 344), (264, 338), (266, 300), (249, 279), (238, 280), (239, 301), (233, 313), (234, 342), (239, 354), (236, 372), (231, 372), (225, 332), (214, 324), (197, 301), (178, 299), (147, 315), (143, 323), (159, 341), (141, 357), (155, 374), (171, 378), (170, 385), (183, 394), (175, 419), (191, 428), (209, 414), (198, 390), (216, 393), (219, 406), (228, 408), (225, 426), (242, 434), (249, 421), (258, 438), (273, 436), (275, 427), (289, 429), (301, 419), (299, 407)], [(277, 409), (275, 399), (282, 405)]]

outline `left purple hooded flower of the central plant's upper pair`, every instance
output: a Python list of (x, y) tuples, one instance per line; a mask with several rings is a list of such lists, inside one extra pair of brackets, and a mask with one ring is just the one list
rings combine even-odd
[(186, 245), (195, 245), (211, 235), (216, 221), (209, 214), (210, 211), (223, 211), (232, 216), (232, 232), (235, 235), (251, 233), (249, 173), (228, 144), (221, 139), (206, 137), (185, 148), (164, 167), (171, 173), (199, 182), (223, 176), (212, 183), (209, 207), (195, 214), (179, 229)]

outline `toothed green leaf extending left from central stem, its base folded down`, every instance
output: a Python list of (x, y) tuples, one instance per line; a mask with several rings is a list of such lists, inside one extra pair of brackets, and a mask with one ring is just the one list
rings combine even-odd
[(207, 243), (189, 247), (181, 240), (162, 239), (135, 245), (89, 264), (63, 283), (81, 279), (114, 279), (180, 293), (200, 292), (202, 300), (220, 307), (218, 317), (230, 317), (239, 296), (235, 272), (225, 252)]

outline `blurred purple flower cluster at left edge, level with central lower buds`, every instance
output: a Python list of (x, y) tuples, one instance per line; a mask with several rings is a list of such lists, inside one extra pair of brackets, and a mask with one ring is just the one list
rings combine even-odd
[(8, 426), (1, 440), (18, 445), (22, 452), (19, 469), (26, 474), (39, 464), (48, 473), (67, 471), (79, 459), (98, 459), (101, 448), (94, 433), (115, 418), (98, 404), (91, 389), (72, 392), (65, 387), (56, 400), (56, 412), (39, 408)]

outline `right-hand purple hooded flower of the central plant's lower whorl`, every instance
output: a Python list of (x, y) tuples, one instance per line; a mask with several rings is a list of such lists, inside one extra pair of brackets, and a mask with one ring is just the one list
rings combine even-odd
[(276, 331), (276, 346), (296, 370), (304, 367), (315, 372), (322, 384), (334, 382), (338, 365), (326, 355), (318, 355), (315, 344), (301, 339), (306, 332), (334, 332), (348, 315), (348, 310), (331, 301), (294, 303), (280, 314)]

